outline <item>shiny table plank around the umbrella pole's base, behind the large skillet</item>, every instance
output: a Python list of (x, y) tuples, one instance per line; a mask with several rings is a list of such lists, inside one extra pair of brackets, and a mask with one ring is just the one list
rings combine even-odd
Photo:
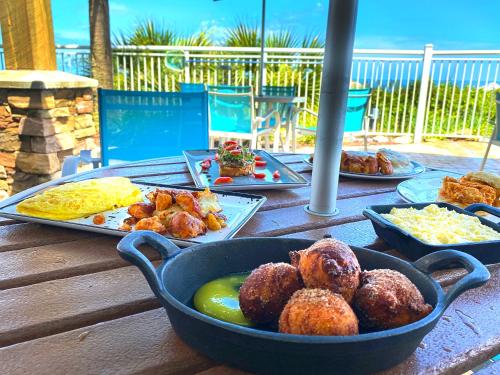
[(400, 201), (400, 198), (394, 192), (342, 199), (337, 202), (340, 213), (333, 217), (309, 215), (302, 206), (257, 212), (238, 233), (238, 237), (280, 236), (364, 220), (365, 217), (362, 215), (362, 211), (366, 206), (398, 201)]

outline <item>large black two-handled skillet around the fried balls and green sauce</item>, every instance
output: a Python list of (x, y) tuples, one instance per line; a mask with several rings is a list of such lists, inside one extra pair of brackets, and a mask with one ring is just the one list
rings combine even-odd
[[(231, 273), (250, 271), (267, 262), (288, 262), (288, 252), (314, 241), (242, 238), (180, 250), (163, 236), (132, 232), (118, 244), (122, 258), (136, 265), (167, 310), (175, 332), (208, 357), (247, 371), (266, 374), (370, 373), (395, 366), (412, 354), (449, 304), (464, 291), (484, 284), (488, 270), (468, 254), (454, 250), (425, 256), (415, 263), (376, 251), (351, 247), (362, 269), (392, 268), (405, 274), (434, 310), (404, 327), (358, 336), (301, 336), (241, 327), (193, 309), (192, 298), (203, 284)], [(153, 246), (163, 263), (155, 269), (137, 249)], [(469, 272), (445, 294), (429, 273), (459, 264)]]

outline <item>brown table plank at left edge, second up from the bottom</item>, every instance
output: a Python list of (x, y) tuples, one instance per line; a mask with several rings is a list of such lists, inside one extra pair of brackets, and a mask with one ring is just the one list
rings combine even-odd
[(0, 291), (0, 346), (159, 307), (136, 267)]

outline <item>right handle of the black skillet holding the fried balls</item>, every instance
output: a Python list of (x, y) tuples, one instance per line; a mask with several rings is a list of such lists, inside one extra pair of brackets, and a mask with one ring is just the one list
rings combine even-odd
[(446, 293), (444, 297), (445, 309), (466, 290), (485, 284), (490, 279), (488, 269), (472, 255), (457, 250), (436, 251), (413, 263), (416, 268), (426, 274), (456, 263), (462, 265), (468, 274), (457, 281)]

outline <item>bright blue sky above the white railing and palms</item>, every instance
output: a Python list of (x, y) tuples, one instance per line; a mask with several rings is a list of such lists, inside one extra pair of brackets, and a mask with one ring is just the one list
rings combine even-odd
[[(111, 31), (153, 18), (220, 40), (236, 19), (260, 22), (260, 0), (110, 0)], [(328, 0), (267, 0), (268, 30), (324, 37)], [(52, 0), (56, 43), (88, 44), (88, 0)], [(500, 0), (359, 0), (355, 47), (500, 49)]]

